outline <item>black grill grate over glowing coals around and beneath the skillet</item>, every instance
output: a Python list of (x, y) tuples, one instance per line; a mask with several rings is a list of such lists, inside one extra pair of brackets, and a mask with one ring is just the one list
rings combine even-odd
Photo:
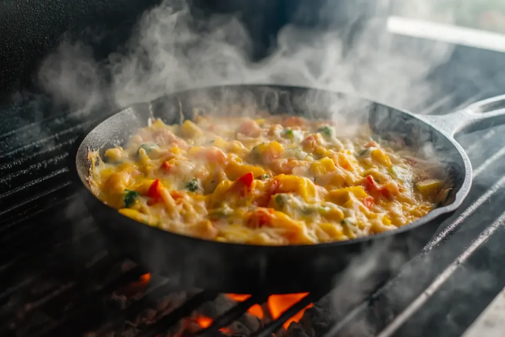
[(460, 139), (471, 195), (399, 272), (349, 273), (322, 294), (237, 295), (176, 288), (111, 250), (67, 168), (101, 116), (45, 111), (0, 112), (0, 335), (456, 336), (505, 285), (503, 127)]

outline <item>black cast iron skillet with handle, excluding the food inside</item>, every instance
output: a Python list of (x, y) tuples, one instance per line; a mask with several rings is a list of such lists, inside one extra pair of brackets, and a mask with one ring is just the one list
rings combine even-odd
[[(300, 293), (323, 290), (347, 268), (383, 271), (398, 256), (418, 252), (441, 220), (455, 211), (472, 184), (472, 166), (454, 135), (492, 123), (505, 123), (505, 109), (496, 110), (505, 95), (444, 116), (421, 116), (379, 103), (325, 90), (268, 85), (231, 85), (172, 93), (154, 102), (124, 109), (92, 127), (76, 143), (72, 171), (96, 223), (134, 261), (153, 273), (170, 276), (183, 287), (252, 294)], [(125, 142), (149, 117), (166, 123), (192, 118), (194, 107), (256, 104), (272, 113), (328, 117), (347, 111), (347, 118), (366, 118), (384, 138), (402, 137), (413, 147), (429, 143), (447, 165), (453, 184), (447, 201), (425, 217), (397, 230), (371, 237), (321, 245), (266, 247), (219, 243), (183, 236), (138, 223), (103, 204), (88, 188), (88, 149), (105, 149)], [(349, 113), (350, 112), (350, 113)], [(345, 126), (342, 126), (343, 128)], [(352, 265), (350, 265), (352, 261)]]

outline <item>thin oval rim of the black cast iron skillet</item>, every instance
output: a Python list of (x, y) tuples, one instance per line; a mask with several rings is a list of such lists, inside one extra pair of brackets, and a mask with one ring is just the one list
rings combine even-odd
[[(145, 104), (152, 104), (152, 103), (157, 102), (159, 100), (163, 100), (163, 99), (166, 99), (169, 97), (174, 97), (177, 94), (183, 94), (183, 93), (187, 94), (188, 92), (191, 92), (191, 91), (196, 92), (196, 91), (211, 90), (211, 89), (217, 89), (217, 88), (244, 88), (245, 89), (245, 88), (261, 88), (261, 87), (268, 87), (268, 88), (277, 89), (277, 90), (282, 89), (282, 88), (285, 88), (288, 90), (295, 90), (295, 89), (317, 90), (317, 91), (324, 91), (324, 92), (327, 92), (330, 94), (341, 94), (341, 95), (344, 95), (345, 97), (357, 98), (361, 101), (366, 101), (368, 103), (372, 103), (372, 104), (387, 108), (389, 110), (392, 109), (392, 110), (399, 112), (401, 114), (407, 114), (411, 118), (416, 119), (418, 122), (428, 125), (430, 128), (432, 128), (434, 131), (436, 131), (439, 135), (445, 137), (446, 140), (448, 140), (451, 143), (451, 145), (458, 151), (458, 154), (460, 155), (460, 158), (463, 161), (463, 164), (464, 164), (463, 169), (465, 171), (465, 177), (464, 177), (463, 182), (461, 183), (461, 187), (456, 192), (456, 196), (455, 196), (454, 201), (449, 205), (433, 209), (427, 215), (425, 215), (425, 216), (423, 216), (413, 222), (410, 222), (409, 224), (403, 225), (403, 226), (398, 227), (393, 230), (384, 231), (382, 233), (375, 234), (375, 235), (367, 235), (364, 237), (359, 237), (359, 238), (350, 239), (350, 240), (334, 241), (334, 242), (314, 244), (314, 245), (268, 246), (268, 245), (252, 245), (252, 244), (241, 244), (241, 243), (232, 243), (232, 242), (218, 242), (215, 240), (208, 240), (208, 239), (204, 239), (204, 238), (200, 238), (200, 237), (196, 237), (196, 236), (179, 234), (179, 233), (167, 231), (167, 230), (164, 230), (164, 229), (161, 229), (158, 227), (147, 226), (139, 221), (136, 221), (134, 219), (131, 219), (127, 216), (122, 215), (121, 213), (118, 212), (117, 209), (115, 209), (115, 208), (105, 204), (101, 200), (99, 200), (88, 188), (86, 182), (81, 179), (81, 176), (79, 174), (78, 163), (77, 163), (77, 154), (78, 154), (79, 150), (81, 149), (81, 146), (83, 146), (84, 141), (91, 134), (91, 132), (93, 132), (93, 130), (96, 127), (98, 127), (99, 125), (102, 125), (103, 123), (107, 122), (109, 119), (112, 119), (119, 114), (126, 113), (129, 110), (135, 109), (135, 107), (137, 107), (137, 106), (141, 106), (141, 105), (145, 105)], [(79, 135), (79, 137), (77, 137), (77, 139), (75, 140), (73, 148), (72, 148), (72, 155), (71, 155), (71, 160), (70, 160), (70, 166), (71, 166), (70, 171), (72, 172), (72, 177), (73, 177), (72, 180), (79, 181), (80, 186), (78, 186), (78, 188), (81, 190), (82, 189), (86, 190), (86, 194), (87, 194), (86, 197), (92, 197), (93, 202), (97, 202), (101, 206), (106, 206), (106, 207), (103, 207), (104, 210), (107, 209), (108, 211), (114, 212), (116, 214), (115, 216), (120, 216), (124, 221), (131, 221), (139, 226), (147, 226), (150, 228), (150, 230), (158, 231), (159, 235), (162, 235), (162, 236), (164, 235), (167, 237), (168, 236), (175, 236), (179, 239), (184, 239), (189, 242), (193, 242), (194, 244), (200, 244), (200, 245), (224, 244), (224, 245), (228, 245), (230, 248), (233, 247), (236, 249), (254, 249), (255, 247), (258, 247), (258, 248), (266, 250), (267, 253), (275, 253), (275, 251), (278, 251), (281, 249), (283, 249), (284, 251), (295, 250), (295, 249), (304, 249), (304, 250), (310, 251), (310, 250), (325, 249), (325, 248), (331, 248), (331, 247), (337, 247), (337, 246), (347, 246), (347, 245), (351, 246), (351, 245), (371, 243), (374, 240), (384, 239), (389, 236), (395, 236), (395, 235), (413, 230), (413, 229), (420, 227), (424, 224), (428, 224), (428, 223), (432, 222), (433, 220), (435, 220), (436, 218), (442, 216), (443, 214), (450, 215), (450, 213), (456, 211), (461, 206), (463, 201), (468, 196), (468, 194), (470, 192), (470, 188), (472, 186), (472, 165), (471, 165), (470, 159), (468, 158), (468, 155), (463, 150), (461, 145), (455, 140), (453, 135), (447, 134), (447, 133), (439, 130), (439, 128), (436, 125), (434, 125), (433, 122), (427, 122), (427, 121), (423, 120), (421, 117), (422, 115), (417, 115), (417, 114), (411, 113), (407, 110), (394, 108), (392, 106), (380, 103), (375, 100), (371, 100), (371, 99), (368, 99), (365, 97), (361, 97), (358, 95), (353, 95), (353, 94), (349, 94), (349, 93), (345, 93), (345, 92), (341, 92), (341, 91), (334, 91), (334, 90), (328, 90), (328, 89), (317, 88), (317, 87), (305, 87), (305, 86), (298, 86), (298, 85), (259, 84), (259, 83), (256, 83), (256, 84), (224, 84), (224, 85), (203, 86), (203, 87), (195, 87), (195, 88), (189, 88), (189, 89), (184, 89), (184, 90), (179, 90), (179, 91), (173, 91), (173, 92), (164, 94), (164, 95), (162, 95), (154, 100), (151, 100), (151, 101), (139, 102), (139, 103), (135, 103), (130, 106), (118, 108), (118, 109), (119, 110), (116, 110), (116, 112), (108, 114), (103, 119), (100, 119), (97, 122), (93, 123), (87, 129), (82, 131), (81, 134)], [(86, 148), (89, 148), (88, 145), (85, 145), (85, 146), (86, 146)], [(86, 151), (87, 151), (87, 149), (86, 149)], [(90, 215), (93, 217), (93, 214), (90, 214)]]

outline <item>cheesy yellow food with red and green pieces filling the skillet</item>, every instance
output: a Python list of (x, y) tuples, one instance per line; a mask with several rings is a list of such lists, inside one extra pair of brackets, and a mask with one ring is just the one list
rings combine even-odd
[(447, 196), (441, 167), (367, 126), (301, 117), (157, 119), (100, 158), (89, 183), (134, 220), (251, 245), (310, 245), (396, 229)]

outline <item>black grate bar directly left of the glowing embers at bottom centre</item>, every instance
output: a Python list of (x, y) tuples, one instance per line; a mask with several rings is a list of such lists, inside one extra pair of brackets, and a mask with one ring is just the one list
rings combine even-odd
[(155, 337), (157, 334), (167, 331), (179, 320), (189, 316), (200, 305), (208, 301), (213, 301), (217, 296), (217, 293), (211, 291), (203, 291), (194, 295), (186, 302), (184, 302), (180, 307), (169, 313), (167, 316), (163, 317), (139, 333), (137, 337)]

